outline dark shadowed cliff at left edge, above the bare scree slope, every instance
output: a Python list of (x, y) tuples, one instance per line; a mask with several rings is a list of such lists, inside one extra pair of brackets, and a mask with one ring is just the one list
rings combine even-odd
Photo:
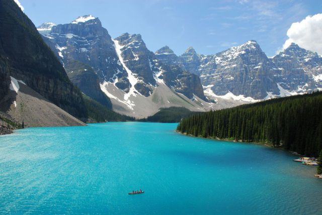
[(36, 27), (12, 0), (0, 1), (0, 47), (0, 75), (5, 77), (1, 80), (2, 92), (6, 92), (10, 75), (69, 114), (86, 118), (81, 91), (73, 86)]

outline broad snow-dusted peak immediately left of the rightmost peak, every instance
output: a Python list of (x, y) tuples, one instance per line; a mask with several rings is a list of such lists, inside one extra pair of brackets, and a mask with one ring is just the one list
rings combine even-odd
[[(213, 58), (204, 59), (207, 63), (201, 64), (199, 72), (204, 85), (213, 85), (214, 93), (223, 95), (230, 91), (255, 99), (265, 98), (267, 92), (279, 94), (273, 78), (274, 65), (256, 41), (232, 47)], [(216, 66), (211, 73), (214, 61)]]

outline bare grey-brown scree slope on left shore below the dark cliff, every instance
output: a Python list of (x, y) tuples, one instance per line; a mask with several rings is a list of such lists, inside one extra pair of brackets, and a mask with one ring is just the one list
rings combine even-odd
[(22, 81), (11, 77), (10, 89), (0, 100), (0, 111), (25, 127), (85, 126)]

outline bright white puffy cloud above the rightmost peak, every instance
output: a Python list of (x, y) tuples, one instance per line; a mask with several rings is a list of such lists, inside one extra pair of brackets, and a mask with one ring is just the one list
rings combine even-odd
[(322, 14), (307, 16), (300, 22), (293, 23), (287, 31), (288, 39), (283, 48), (296, 43), (304, 49), (322, 55)]

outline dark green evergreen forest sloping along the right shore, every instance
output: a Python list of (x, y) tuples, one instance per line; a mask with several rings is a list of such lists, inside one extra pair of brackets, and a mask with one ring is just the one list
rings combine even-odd
[(276, 98), (186, 118), (177, 130), (196, 137), (268, 143), (318, 156), (322, 92)]

